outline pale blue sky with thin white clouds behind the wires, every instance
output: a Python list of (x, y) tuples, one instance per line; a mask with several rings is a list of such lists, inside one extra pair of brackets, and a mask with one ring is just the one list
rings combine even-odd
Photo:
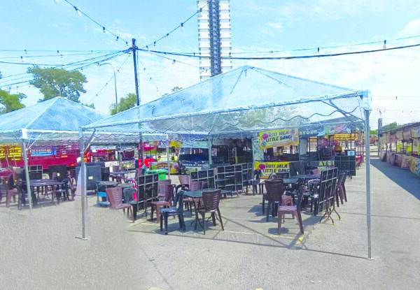
[[(120, 38), (137, 38), (139, 46), (151, 43), (186, 20), (197, 9), (196, 1), (111, 1), (71, 0), (71, 2), (103, 24)], [(366, 3), (367, 2), (367, 3)], [(420, 43), (420, 38), (391, 41), (395, 38), (420, 35), (420, 1), (257, 1), (231, 0), (232, 51), (267, 51), (316, 48), (364, 41), (383, 41), (388, 47)], [(17, 61), (39, 64), (67, 64), (92, 57), (84, 55), (64, 57), (34, 57), (57, 55), (55, 52), (23, 52), (22, 50), (124, 50), (123, 41), (88, 20), (65, 3), (64, 0), (15, 0), (3, 3), (0, 10), (0, 31), (3, 41), (0, 61)], [(343, 52), (381, 48), (382, 44), (325, 49), (321, 52)], [(185, 29), (175, 31), (160, 41), (156, 50), (197, 52), (197, 17), (185, 24)], [(79, 52), (81, 53), (81, 52)], [(278, 55), (314, 54), (314, 51), (281, 52)], [(59, 54), (71, 54), (60, 52)], [(96, 53), (94, 56), (100, 55)], [(328, 59), (233, 61), (234, 68), (244, 64), (269, 68), (342, 85), (354, 89), (370, 89), (375, 110), (372, 126), (375, 126), (381, 110), (384, 123), (419, 121), (420, 75), (419, 48), (378, 52), (369, 55), (332, 57)], [(152, 101), (170, 91), (174, 86), (188, 87), (199, 82), (198, 61), (177, 57), (177, 61), (140, 53), (141, 99)], [(12, 58), (15, 57), (15, 58)], [(117, 69), (127, 57), (121, 56), (109, 62)], [(146, 71), (144, 70), (146, 68)], [(3, 76), (25, 73), (27, 66), (0, 64)], [(118, 96), (134, 92), (132, 59), (127, 59), (117, 73)], [(86, 94), (83, 103), (91, 101), (97, 110), (109, 112), (115, 100), (111, 66), (86, 68)], [(24, 78), (26, 75), (16, 76)], [(0, 86), (14, 78), (0, 80)], [(27, 78), (21, 79), (27, 80)], [(18, 81), (18, 80), (17, 80)], [(104, 87), (104, 89), (102, 89)], [(95, 96), (99, 90), (102, 91)], [(27, 94), (24, 103), (31, 105), (41, 98), (34, 87), (25, 84), (12, 87), (10, 92)], [(398, 99), (395, 99), (398, 96)]]

